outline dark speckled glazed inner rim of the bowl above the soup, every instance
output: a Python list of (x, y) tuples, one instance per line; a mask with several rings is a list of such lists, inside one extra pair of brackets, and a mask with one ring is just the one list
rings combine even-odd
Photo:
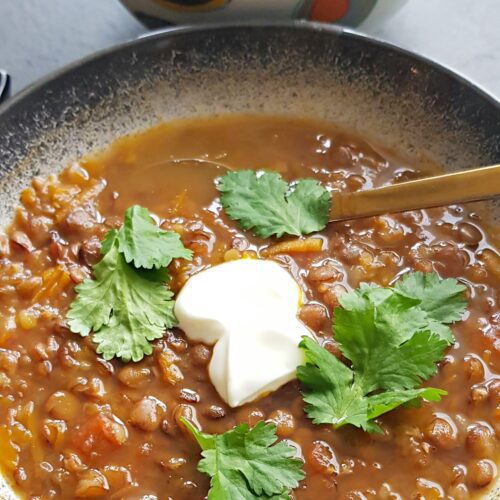
[[(1, 222), (34, 175), (162, 120), (231, 112), (328, 119), (447, 170), (500, 163), (499, 103), (418, 56), (303, 22), (175, 28), (90, 57), (0, 107)], [(498, 203), (486, 208), (498, 224)], [(4, 487), (0, 498), (8, 495)]]

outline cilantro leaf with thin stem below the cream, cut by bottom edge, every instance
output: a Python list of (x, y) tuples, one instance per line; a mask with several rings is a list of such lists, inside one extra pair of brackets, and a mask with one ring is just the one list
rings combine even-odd
[(276, 426), (239, 424), (224, 434), (204, 434), (187, 420), (183, 424), (202, 449), (198, 470), (210, 476), (208, 500), (289, 498), (288, 491), (304, 478), (295, 449), (276, 443)]

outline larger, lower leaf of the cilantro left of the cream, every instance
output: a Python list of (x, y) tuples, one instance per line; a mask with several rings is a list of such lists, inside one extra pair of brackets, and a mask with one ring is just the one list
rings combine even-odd
[(176, 324), (166, 273), (135, 269), (119, 253), (115, 237), (93, 268), (94, 280), (75, 287), (77, 298), (67, 314), (72, 332), (96, 332), (93, 342), (104, 359), (140, 361), (153, 352), (149, 343)]

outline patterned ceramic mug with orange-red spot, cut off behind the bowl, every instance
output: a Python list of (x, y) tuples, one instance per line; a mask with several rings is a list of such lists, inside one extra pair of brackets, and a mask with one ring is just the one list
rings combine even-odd
[(311, 21), (359, 26), (376, 23), (406, 0), (122, 0), (144, 24), (236, 22), (248, 19)]

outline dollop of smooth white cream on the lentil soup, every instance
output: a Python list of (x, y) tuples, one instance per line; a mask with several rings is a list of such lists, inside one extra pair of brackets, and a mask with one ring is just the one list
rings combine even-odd
[(297, 318), (302, 292), (270, 260), (226, 262), (192, 276), (175, 314), (188, 338), (215, 344), (209, 375), (229, 406), (253, 401), (295, 378), (298, 344), (311, 335)]

